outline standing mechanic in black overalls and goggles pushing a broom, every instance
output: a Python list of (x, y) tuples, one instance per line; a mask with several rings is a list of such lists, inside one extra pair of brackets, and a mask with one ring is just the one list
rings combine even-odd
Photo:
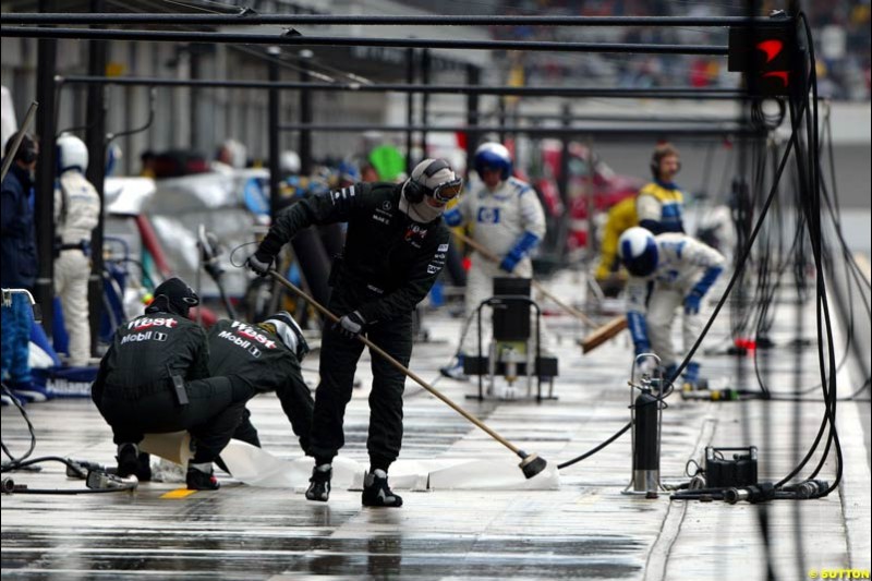
[[(330, 494), (332, 458), (344, 444), (342, 419), (351, 399), (354, 371), (363, 352), (358, 336), (387, 351), (403, 365), (412, 353), (412, 313), (445, 265), (448, 229), (445, 205), (462, 187), (444, 159), (425, 159), (404, 183), (356, 183), (316, 195), (281, 211), (247, 266), (264, 276), (281, 246), (312, 225), (348, 222), (343, 257), (334, 264), (329, 308), (341, 316), (326, 326), (320, 350), (320, 384), (315, 392), (310, 455), (315, 458), (310, 500)], [(402, 391), (405, 376), (372, 354), (370, 470), (364, 506), (399, 507), (387, 471), (402, 443)]]

